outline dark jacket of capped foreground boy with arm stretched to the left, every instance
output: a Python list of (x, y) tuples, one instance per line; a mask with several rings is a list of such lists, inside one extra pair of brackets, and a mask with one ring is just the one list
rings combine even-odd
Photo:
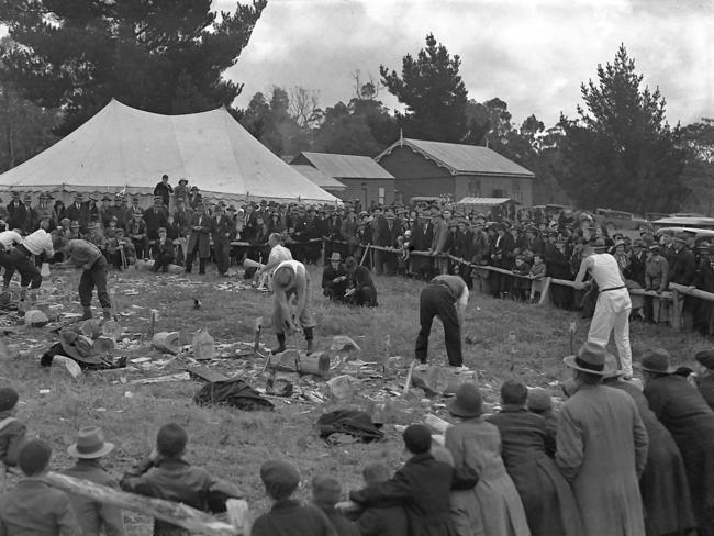
[[(454, 469), (431, 454), (413, 456), (391, 480), (353, 491), (349, 498), (364, 506), (403, 505), (411, 536), (453, 536), (449, 513)], [(475, 482), (476, 483), (476, 482)]]

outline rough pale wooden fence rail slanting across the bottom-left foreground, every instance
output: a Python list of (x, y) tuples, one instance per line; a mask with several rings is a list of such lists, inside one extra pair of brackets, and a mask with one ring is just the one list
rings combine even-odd
[(123, 510), (149, 515), (157, 520), (178, 525), (193, 534), (204, 534), (208, 536), (247, 536), (248, 534), (186, 504), (134, 495), (133, 493), (99, 485), (89, 480), (67, 477), (56, 472), (47, 473), (45, 480), (60, 490), (87, 496), (93, 501), (111, 504)]

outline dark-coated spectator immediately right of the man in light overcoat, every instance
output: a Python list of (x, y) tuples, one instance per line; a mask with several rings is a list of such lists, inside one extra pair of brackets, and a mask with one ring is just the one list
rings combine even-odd
[(692, 515), (687, 472), (679, 448), (649, 409), (643, 392), (632, 382), (620, 379), (625, 372), (616, 370), (618, 367), (615, 356), (609, 355), (606, 364), (613, 371), (603, 377), (603, 386), (625, 391), (633, 398), (649, 437), (647, 465), (639, 478), (645, 532), (647, 536), (688, 534), (696, 523)]

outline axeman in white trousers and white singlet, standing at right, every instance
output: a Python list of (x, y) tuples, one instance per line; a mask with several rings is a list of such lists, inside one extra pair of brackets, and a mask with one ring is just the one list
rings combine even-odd
[(615, 346), (625, 379), (633, 376), (633, 355), (629, 347), (629, 313), (632, 302), (625, 286), (625, 279), (620, 271), (615, 257), (607, 253), (596, 253), (591, 245), (582, 249), (582, 261), (576, 277), (574, 288), (582, 290), (591, 282), (583, 282), (585, 273), (590, 272), (598, 283), (598, 302), (590, 323), (588, 340), (601, 346), (607, 346), (610, 333), (614, 333)]

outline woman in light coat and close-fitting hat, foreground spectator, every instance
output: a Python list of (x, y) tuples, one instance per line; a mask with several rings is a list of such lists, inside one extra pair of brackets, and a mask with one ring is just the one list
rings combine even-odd
[(479, 483), (451, 493), (451, 515), (459, 536), (528, 536), (528, 525), (511, 477), (501, 459), (499, 429), (483, 420), (478, 388), (464, 383), (448, 410), (460, 417), (446, 431), (445, 446), (455, 467), (475, 469)]

